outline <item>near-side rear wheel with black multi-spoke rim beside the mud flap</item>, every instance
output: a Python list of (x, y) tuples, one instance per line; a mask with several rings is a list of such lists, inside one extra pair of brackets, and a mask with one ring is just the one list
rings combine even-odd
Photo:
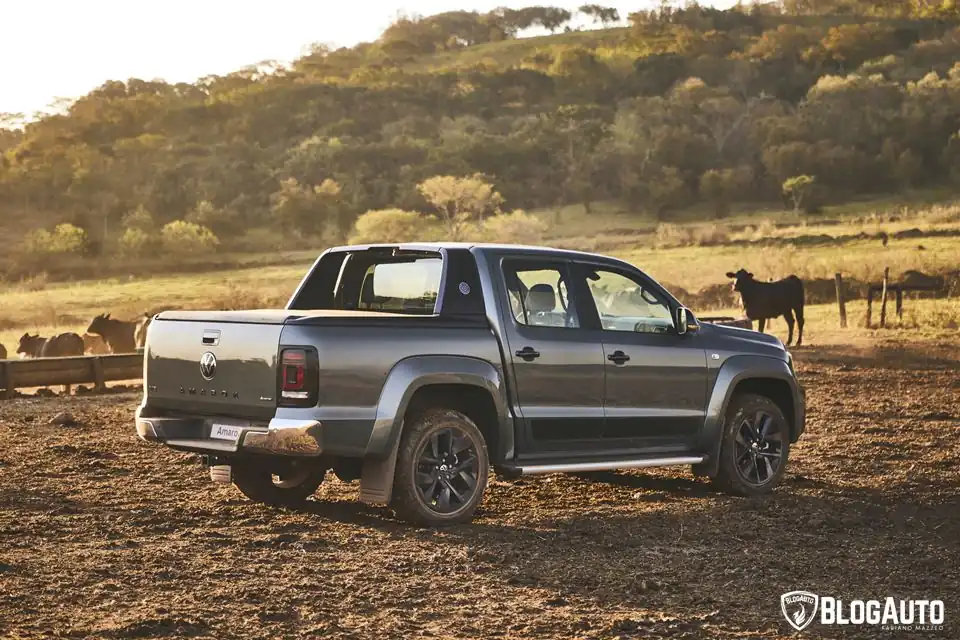
[(470, 418), (426, 411), (404, 425), (390, 506), (413, 524), (468, 522), (483, 499), (489, 467), (483, 434)]

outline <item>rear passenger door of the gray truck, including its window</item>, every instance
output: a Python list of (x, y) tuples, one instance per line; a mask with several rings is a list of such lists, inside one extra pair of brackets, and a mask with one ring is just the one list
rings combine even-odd
[(504, 347), (525, 454), (549, 456), (602, 441), (603, 347), (598, 332), (582, 326), (585, 301), (571, 299), (568, 268), (547, 259), (502, 262)]

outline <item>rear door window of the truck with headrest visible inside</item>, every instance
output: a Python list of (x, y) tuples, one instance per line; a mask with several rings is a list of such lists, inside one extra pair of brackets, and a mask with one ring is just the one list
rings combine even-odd
[(513, 318), (530, 327), (576, 329), (577, 311), (565, 273), (555, 265), (504, 261), (503, 275)]

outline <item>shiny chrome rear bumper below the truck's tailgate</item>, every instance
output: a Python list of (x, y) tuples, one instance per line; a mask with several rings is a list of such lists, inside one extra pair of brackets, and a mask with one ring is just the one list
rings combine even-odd
[[(137, 435), (146, 442), (197, 453), (252, 453), (315, 457), (323, 454), (323, 425), (316, 420), (274, 418), (266, 425), (210, 418), (146, 417), (137, 410)], [(213, 423), (240, 430), (236, 440), (211, 437)]]

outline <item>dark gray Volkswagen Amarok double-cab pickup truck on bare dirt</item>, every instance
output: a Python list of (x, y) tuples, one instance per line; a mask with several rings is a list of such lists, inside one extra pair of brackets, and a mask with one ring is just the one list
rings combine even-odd
[(425, 525), (470, 520), (491, 468), (690, 465), (767, 493), (805, 418), (777, 338), (701, 323), (621, 260), (514, 245), (337, 247), (285, 309), (165, 311), (143, 385), (139, 436), (252, 500), (332, 469)]

